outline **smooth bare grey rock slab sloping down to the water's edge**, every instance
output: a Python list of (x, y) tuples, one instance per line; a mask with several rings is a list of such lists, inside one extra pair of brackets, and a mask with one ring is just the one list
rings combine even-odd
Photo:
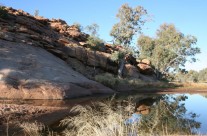
[(40, 47), (0, 40), (0, 98), (64, 99), (113, 92)]

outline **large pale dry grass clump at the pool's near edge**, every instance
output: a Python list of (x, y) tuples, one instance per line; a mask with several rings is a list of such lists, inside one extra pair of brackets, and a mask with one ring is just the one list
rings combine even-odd
[[(67, 126), (63, 132), (65, 136), (126, 136), (137, 130), (138, 123), (126, 125), (133, 106), (112, 108), (112, 103), (94, 103), (92, 106), (77, 105), (71, 112), (78, 113), (75, 117), (68, 117), (61, 121)], [(123, 110), (122, 110), (123, 109)]]

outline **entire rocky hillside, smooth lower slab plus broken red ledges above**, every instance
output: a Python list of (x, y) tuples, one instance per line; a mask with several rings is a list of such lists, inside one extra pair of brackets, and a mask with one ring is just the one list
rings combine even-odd
[[(6, 8), (0, 18), (0, 98), (64, 99), (114, 91), (89, 79), (97, 74), (117, 74), (111, 53), (122, 46), (105, 44), (93, 50), (88, 34), (61, 19), (34, 17)], [(55, 57), (56, 56), (56, 57)], [(125, 57), (124, 76), (151, 81), (150, 62)]]

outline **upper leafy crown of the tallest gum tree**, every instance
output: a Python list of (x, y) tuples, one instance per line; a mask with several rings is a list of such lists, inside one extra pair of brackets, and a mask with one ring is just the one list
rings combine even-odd
[(119, 22), (113, 26), (110, 33), (115, 42), (129, 46), (133, 36), (141, 32), (141, 26), (146, 22), (143, 16), (146, 14), (147, 11), (141, 6), (132, 8), (128, 4), (122, 5), (116, 15)]

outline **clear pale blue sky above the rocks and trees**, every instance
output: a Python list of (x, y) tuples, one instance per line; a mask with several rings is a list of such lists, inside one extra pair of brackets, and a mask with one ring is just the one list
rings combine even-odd
[(60, 18), (69, 25), (79, 23), (82, 26), (96, 23), (99, 36), (111, 41), (109, 33), (118, 21), (116, 14), (121, 5), (143, 6), (152, 21), (145, 24), (143, 34), (155, 36), (156, 30), (163, 23), (173, 23), (185, 35), (196, 36), (195, 46), (201, 49), (196, 55), (196, 63), (187, 63), (187, 70), (201, 70), (207, 67), (207, 0), (0, 0), (0, 4), (22, 9), (32, 15), (35, 10), (46, 18)]

